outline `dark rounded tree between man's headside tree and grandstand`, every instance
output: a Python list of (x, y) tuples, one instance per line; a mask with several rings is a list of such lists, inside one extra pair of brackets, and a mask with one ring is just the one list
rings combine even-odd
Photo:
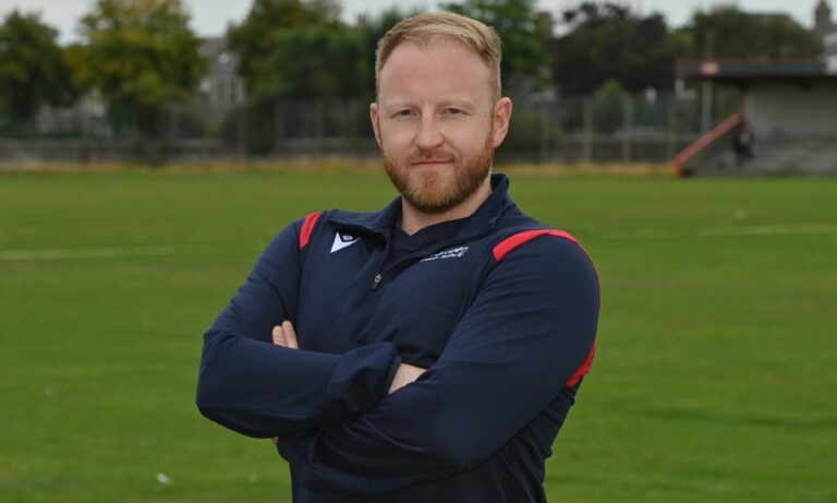
[(639, 16), (615, 3), (565, 12), (569, 32), (549, 45), (553, 81), (565, 93), (592, 93), (608, 81), (628, 92), (670, 88), (675, 52), (660, 14)]

